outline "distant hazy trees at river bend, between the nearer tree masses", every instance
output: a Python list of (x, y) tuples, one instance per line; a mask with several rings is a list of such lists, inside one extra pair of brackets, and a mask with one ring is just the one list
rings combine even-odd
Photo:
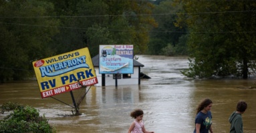
[[(186, 27), (176, 27), (176, 17), (182, 10), (180, 4), (173, 1), (158, 1), (153, 14), (158, 27), (150, 33), (148, 54), (153, 55), (187, 55), (186, 53)], [(182, 37), (182, 38), (181, 38)], [(172, 50), (171, 50), (172, 49)]]

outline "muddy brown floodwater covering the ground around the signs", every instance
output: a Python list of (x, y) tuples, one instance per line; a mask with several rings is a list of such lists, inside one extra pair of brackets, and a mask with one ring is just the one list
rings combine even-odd
[[(141, 80), (140, 85), (92, 86), (80, 104), (80, 116), (67, 116), (72, 114), (72, 108), (53, 98), (42, 99), (35, 80), (0, 84), (0, 104), (11, 101), (38, 108), (57, 132), (128, 132), (134, 120), (130, 112), (141, 108), (146, 130), (189, 133), (195, 128), (197, 105), (203, 98), (211, 98), (213, 130), (221, 133), (229, 132), (229, 115), (239, 100), (245, 100), (248, 108), (243, 114), (244, 132), (256, 132), (256, 90), (238, 88), (255, 86), (253, 78), (195, 80), (180, 73), (188, 67), (187, 57), (137, 57), (144, 65), (141, 71), (151, 78)], [(81, 91), (75, 90), (75, 96)], [(72, 105), (70, 93), (54, 97)]]

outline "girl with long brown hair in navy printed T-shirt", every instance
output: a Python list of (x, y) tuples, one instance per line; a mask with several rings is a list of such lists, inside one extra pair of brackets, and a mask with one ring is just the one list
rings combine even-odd
[(197, 107), (197, 116), (195, 118), (195, 130), (194, 133), (213, 133), (212, 124), (212, 114), (211, 107), (213, 102), (206, 98)]

